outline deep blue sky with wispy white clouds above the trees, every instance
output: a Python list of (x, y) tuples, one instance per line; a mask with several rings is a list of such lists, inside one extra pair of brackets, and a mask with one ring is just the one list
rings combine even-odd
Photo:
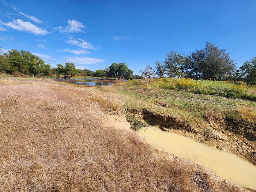
[(134, 74), (211, 42), (237, 66), (256, 56), (255, 0), (0, 0), (0, 46), (50, 63), (104, 69), (126, 63)]

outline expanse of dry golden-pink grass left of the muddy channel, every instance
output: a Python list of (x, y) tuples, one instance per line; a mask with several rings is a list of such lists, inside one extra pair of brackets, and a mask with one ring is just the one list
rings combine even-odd
[[(0, 84), (0, 191), (202, 191), (193, 166), (104, 125), (109, 114), (91, 102), (120, 110), (116, 98), (30, 81)], [(222, 191), (215, 184), (207, 186)]]

